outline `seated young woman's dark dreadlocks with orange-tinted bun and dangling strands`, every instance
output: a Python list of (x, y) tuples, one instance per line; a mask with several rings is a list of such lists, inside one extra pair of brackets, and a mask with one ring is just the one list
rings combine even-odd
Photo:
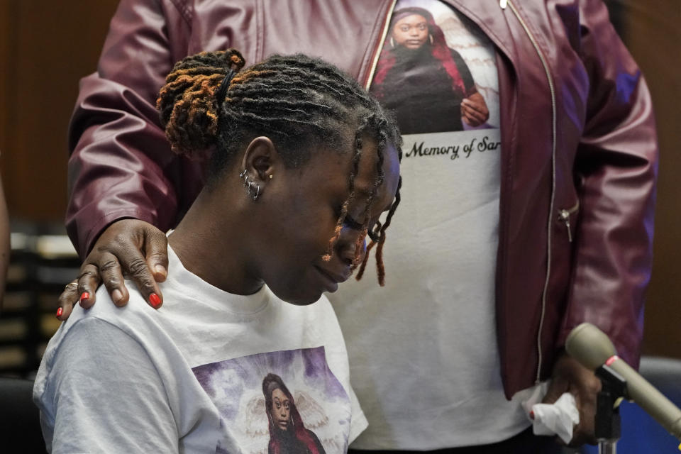
[[(384, 151), (394, 145), (402, 159), (402, 138), (397, 123), (360, 84), (322, 60), (306, 55), (274, 55), (242, 70), (243, 56), (234, 49), (201, 52), (177, 62), (160, 90), (157, 109), (172, 150), (194, 159), (210, 158), (207, 184), (213, 184), (236, 156), (247, 138), (267, 135), (277, 146), (287, 167), (299, 167), (320, 145), (346, 150), (348, 126), (355, 127), (353, 167), (348, 178), (348, 199), (323, 256), (331, 260), (341, 235), (348, 206), (355, 199), (355, 177), (362, 158), (363, 138), (377, 144), (376, 177), (365, 205), (353, 268), (360, 265), (363, 241), (368, 234), (377, 243), (377, 270), (384, 284), (382, 248), (385, 229), (399, 204), (399, 186), (386, 221), (368, 232), (370, 206), (384, 179)], [(233, 77), (232, 77), (233, 76)], [(223, 84), (227, 84), (223, 87)], [(218, 99), (218, 97), (220, 99)], [(301, 138), (303, 140), (301, 140)], [(309, 146), (300, 147), (303, 141)], [(401, 185), (402, 179), (400, 179)], [(360, 279), (367, 262), (361, 263)]]

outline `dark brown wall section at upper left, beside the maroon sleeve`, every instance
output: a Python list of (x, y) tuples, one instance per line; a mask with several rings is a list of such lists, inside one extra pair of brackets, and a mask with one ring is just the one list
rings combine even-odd
[[(1, 40), (10, 216), (61, 222), (66, 207), (67, 125), (80, 77), (96, 69), (117, 1), (4, 0)], [(3, 130), (0, 130), (3, 131)]]

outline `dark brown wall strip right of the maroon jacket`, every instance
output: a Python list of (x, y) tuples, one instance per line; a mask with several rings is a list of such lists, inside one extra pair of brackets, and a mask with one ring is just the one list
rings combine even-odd
[(681, 3), (624, 2), (625, 40), (653, 95), (660, 138), (644, 353), (681, 358)]

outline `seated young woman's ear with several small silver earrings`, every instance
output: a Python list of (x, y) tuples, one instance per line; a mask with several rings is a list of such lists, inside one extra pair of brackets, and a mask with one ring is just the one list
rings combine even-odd
[(282, 165), (282, 158), (270, 138), (261, 136), (250, 141), (243, 153), (239, 176), (253, 200), (265, 192), (267, 183)]

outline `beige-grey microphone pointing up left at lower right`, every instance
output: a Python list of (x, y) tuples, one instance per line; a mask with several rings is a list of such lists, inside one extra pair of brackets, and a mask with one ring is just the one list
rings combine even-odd
[(614, 345), (603, 331), (591, 323), (582, 323), (567, 336), (565, 350), (588, 369), (597, 370), (607, 365), (621, 375), (626, 380), (627, 397), (681, 440), (681, 410), (624, 360), (618, 358)]

